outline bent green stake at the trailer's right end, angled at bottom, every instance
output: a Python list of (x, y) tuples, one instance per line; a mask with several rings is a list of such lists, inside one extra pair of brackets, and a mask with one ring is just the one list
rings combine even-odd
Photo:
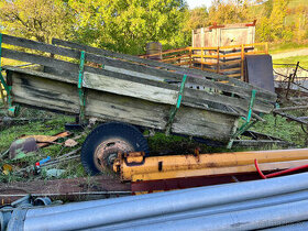
[(255, 100), (255, 95), (256, 95), (256, 90), (253, 89), (251, 92), (251, 101), (250, 101), (250, 106), (249, 106), (249, 112), (248, 112), (248, 117), (244, 118), (242, 117), (242, 119), (245, 121), (243, 125), (241, 125), (240, 129), (237, 130), (237, 132), (231, 136), (227, 148), (231, 148), (234, 142), (234, 139), (237, 139), (239, 135), (243, 134), (245, 131), (248, 131), (256, 121), (252, 121), (251, 122), (251, 118), (252, 118), (252, 110), (253, 110), (253, 105), (254, 105), (254, 100)]

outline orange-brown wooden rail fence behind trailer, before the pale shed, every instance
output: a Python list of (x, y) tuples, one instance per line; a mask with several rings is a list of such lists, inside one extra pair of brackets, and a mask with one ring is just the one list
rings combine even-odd
[[(268, 54), (267, 43), (231, 45), (221, 47), (185, 47), (162, 52), (163, 63), (227, 75), (244, 80), (244, 57)], [(157, 54), (143, 55), (151, 58)]]

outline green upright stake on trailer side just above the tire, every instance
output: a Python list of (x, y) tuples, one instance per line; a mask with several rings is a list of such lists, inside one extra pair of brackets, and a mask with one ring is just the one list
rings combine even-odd
[(82, 88), (85, 57), (86, 57), (85, 52), (81, 51), (80, 64), (79, 64), (79, 77), (78, 77), (78, 94), (79, 94), (79, 103), (80, 103), (79, 119), (80, 119), (80, 121), (85, 120), (85, 108), (86, 108), (86, 97), (85, 97), (85, 90)]

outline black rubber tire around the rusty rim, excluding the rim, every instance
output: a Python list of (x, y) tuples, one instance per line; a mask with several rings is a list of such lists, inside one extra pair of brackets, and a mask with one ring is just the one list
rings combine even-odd
[(145, 152), (148, 155), (147, 142), (135, 127), (121, 122), (103, 123), (97, 127), (82, 144), (80, 158), (88, 174), (98, 175), (100, 173), (95, 164), (95, 152), (101, 142), (110, 138), (124, 140), (133, 146), (134, 152)]

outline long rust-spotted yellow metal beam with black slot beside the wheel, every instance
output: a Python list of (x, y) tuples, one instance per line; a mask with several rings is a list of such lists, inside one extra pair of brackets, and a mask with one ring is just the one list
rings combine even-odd
[[(234, 175), (256, 173), (255, 158), (261, 164), (266, 164), (263, 169), (286, 169), (307, 164), (302, 162), (308, 160), (308, 148), (213, 153), (200, 154), (199, 157), (195, 155), (143, 157), (134, 153), (119, 155), (113, 164), (113, 170), (121, 175), (123, 182)], [(301, 161), (300, 165), (294, 166), (294, 161)]]

